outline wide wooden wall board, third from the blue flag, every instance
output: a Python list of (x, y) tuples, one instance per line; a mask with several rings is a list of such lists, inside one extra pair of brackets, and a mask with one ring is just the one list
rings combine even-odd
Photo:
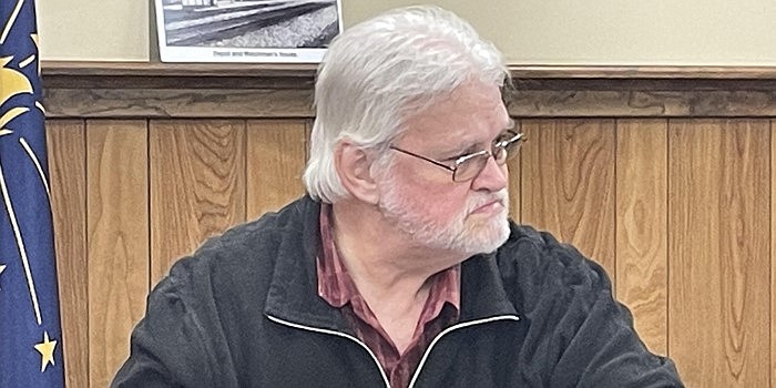
[(245, 221), (245, 122), (150, 123), (151, 284), (203, 241)]

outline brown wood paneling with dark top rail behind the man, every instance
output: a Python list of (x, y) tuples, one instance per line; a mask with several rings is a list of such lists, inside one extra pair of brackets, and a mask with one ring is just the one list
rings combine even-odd
[[(76, 388), (108, 385), (172, 262), (302, 194), (315, 73), (79, 67), (43, 69)], [(509, 165), (511, 215), (603, 263), (688, 387), (773, 386), (776, 68), (511, 71), (529, 139)]]

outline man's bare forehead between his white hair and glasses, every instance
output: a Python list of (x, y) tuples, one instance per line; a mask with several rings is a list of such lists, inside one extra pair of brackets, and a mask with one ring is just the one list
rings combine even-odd
[(468, 83), (410, 116), (404, 137), (430, 146), (489, 142), (510, 123), (497, 85)]

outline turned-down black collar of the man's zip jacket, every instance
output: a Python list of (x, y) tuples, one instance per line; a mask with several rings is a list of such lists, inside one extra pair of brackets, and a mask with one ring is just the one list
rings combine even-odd
[[(320, 251), (320, 203), (304, 196), (282, 210), (284, 233), (265, 302), (265, 314), (295, 324), (353, 334), (338, 309), (318, 296), (315, 261)], [(284, 219), (285, 218), (285, 219)], [(507, 298), (496, 254), (461, 265), (461, 321), (517, 315)]]

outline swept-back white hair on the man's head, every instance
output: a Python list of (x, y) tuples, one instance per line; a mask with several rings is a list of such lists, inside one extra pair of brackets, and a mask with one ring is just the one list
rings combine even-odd
[(341, 140), (384, 152), (407, 119), (462, 83), (502, 86), (508, 74), (491, 42), (435, 6), (396, 9), (347, 29), (318, 68), (308, 194), (327, 203), (348, 197), (334, 163)]

